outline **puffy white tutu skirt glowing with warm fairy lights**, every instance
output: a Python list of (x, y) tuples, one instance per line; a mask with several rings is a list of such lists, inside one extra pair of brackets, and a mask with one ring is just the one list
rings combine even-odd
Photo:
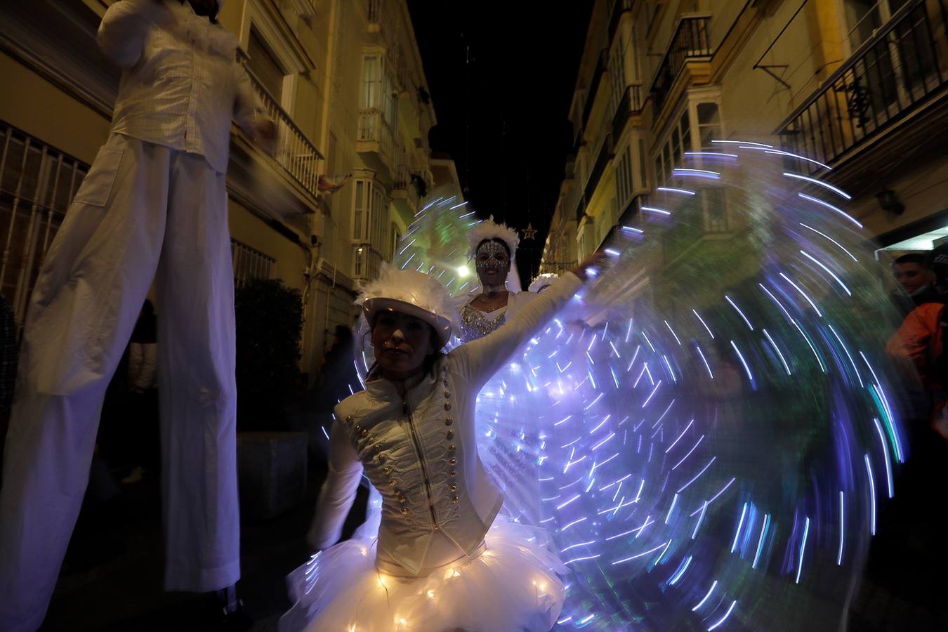
[(563, 607), (559, 575), (568, 569), (542, 529), (498, 515), (482, 549), (410, 579), (375, 569), (375, 539), (366, 531), (377, 527), (287, 576), (294, 605), (281, 632), (546, 632)]

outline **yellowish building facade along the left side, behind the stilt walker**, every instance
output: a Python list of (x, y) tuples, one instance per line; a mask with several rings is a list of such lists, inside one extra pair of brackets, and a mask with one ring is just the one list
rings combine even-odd
[[(109, 0), (4, 3), (0, 18), (0, 291), (22, 324), (32, 284), (108, 135), (118, 68), (96, 45)], [(235, 282), (304, 301), (301, 370), (352, 324), (433, 184), (436, 123), (405, 0), (229, 0), (218, 16), (278, 125), (277, 151), (236, 126), (228, 167)], [(332, 184), (350, 174), (333, 192)], [(320, 176), (327, 176), (320, 180)], [(160, 310), (160, 305), (156, 306)]]

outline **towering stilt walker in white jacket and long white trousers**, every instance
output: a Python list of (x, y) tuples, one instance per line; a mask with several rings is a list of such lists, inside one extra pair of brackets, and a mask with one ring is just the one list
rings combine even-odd
[(240, 576), (230, 121), (272, 143), (224, 0), (122, 0), (99, 44), (122, 69), (111, 134), (28, 308), (0, 492), (0, 630), (43, 622), (82, 505), (105, 388), (158, 288), (165, 588)]

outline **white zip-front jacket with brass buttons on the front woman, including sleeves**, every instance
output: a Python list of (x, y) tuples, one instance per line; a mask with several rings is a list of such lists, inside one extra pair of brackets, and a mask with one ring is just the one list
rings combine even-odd
[(448, 352), (404, 398), (378, 379), (339, 403), (310, 544), (337, 541), (364, 468), (382, 495), (380, 569), (422, 574), (474, 552), (503, 502), (477, 454), (477, 394), (579, 285), (557, 280), (496, 332)]

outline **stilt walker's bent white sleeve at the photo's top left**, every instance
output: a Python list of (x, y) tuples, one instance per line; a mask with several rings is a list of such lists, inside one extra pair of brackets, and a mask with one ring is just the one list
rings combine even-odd
[(168, 9), (155, 0), (121, 0), (102, 16), (99, 47), (113, 63), (131, 68), (141, 58), (153, 24), (170, 19)]

